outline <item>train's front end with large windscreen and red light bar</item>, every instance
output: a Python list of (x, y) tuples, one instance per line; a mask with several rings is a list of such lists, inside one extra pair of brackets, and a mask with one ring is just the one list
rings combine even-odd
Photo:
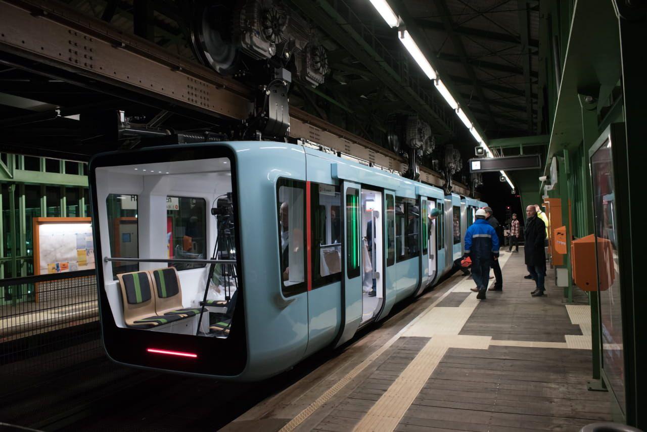
[(243, 373), (236, 168), (228, 144), (91, 161), (100, 321), (115, 362), (219, 378)]

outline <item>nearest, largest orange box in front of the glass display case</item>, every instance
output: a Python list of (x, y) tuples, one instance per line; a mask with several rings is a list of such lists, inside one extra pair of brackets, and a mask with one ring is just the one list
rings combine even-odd
[[(575, 285), (583, 291), (597, 290), (595, 235), (591, 234), (573, 240), (571, 256)], [(608, 239), (598, 239), (598, 266), (600, 268), (600, 291), (606, 291), (615, 279), (613, 247)]]

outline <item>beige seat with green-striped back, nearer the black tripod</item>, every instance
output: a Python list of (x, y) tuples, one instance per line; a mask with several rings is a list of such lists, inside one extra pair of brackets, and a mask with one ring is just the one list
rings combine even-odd
[(180, 277), (175, 267), (149, 270), (155, 286), (155, 310), (162, 316), (189, 318), (200, 313), (200, 308), (182, 307)]

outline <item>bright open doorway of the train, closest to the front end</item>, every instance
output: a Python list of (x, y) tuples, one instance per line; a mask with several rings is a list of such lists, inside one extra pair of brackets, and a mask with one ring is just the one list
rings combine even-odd
[(384, 236), (382, 235), (382, 192), (362, 189), (362, 323), (373, 318), (384, 299)]

